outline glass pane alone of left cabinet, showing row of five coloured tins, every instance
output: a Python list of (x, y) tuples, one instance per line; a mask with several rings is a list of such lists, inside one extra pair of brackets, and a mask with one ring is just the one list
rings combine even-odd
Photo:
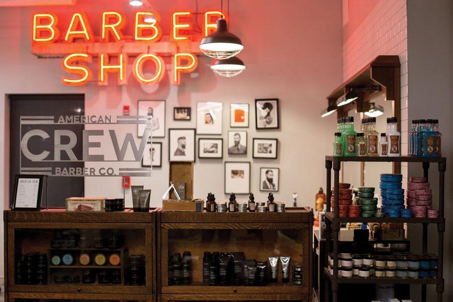
[(14, 235), (16, 284), (145, 285), (143, 229), (15, 229)]

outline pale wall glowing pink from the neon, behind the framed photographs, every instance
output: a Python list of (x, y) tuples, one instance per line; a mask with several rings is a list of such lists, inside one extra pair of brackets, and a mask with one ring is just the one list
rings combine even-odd
[[(173, 1), (151, 2), (163, 16), (164, 34), (169, 31), (170, 12), (176, 9), (192, 9), (195, 2)], [(202, 1), (199, 10), (217, 8), (218, 1)], [(80, 0), (77, 8), (2, 8), (0, 14), (0, 74), (2, 85), (0, 95), (16, 93), (82, 93), (85, 94), (85, 114), (119, 115), (123, 105), (130, 106), (131, 114), (137, 110), (137, 100), (166, 101), (166, 137), (156, 138), (163, 144), (163, 166), (155, 168), (153, 177), (132, 177), (133, 185), (142, 184), (152, 189), (152, 206), (161, 206), (161, 197), (168, 184), (168, 129), (195, 128), (196, 118), (188, 122), (173, 121), (173, 107), (189, 106), (195, 111), (197, 102), (223, 103), (223, 134), (202, 137), (222, 137), (223, 159), (206, 160), (196, 158), (194, 165), (194, 197), (205, 198), (208, 192), (217, 200), (226, 200), (224, 194), (223, 165), (225, 161), (247, 161), (251, 163), (251, 191), (258, 199), (267, 196), (259, 192), (259, 171), (261, 167), (280, 168), (279, 191), (276, 200), (291, 202), (291, 194), (298, 193), (299, 206), (313, 206), (319, 187), (325, 187), (324, 155), (331, 153), (331, 141), (335, 123), (321, 120), (320, 112), (327, 106), (325, 97), (342, 82), (341, 56), (341, 2), (329, 5), (312, 1), (271, 1), (256, 5), (252, 1), (232, 0), (230, 2), (230, 29), (245, 44), (240, 58), (247, 69), (238, 77), (226, 79), (213, 74), (209, 69), (211, 59), (199, 56), (198, 68), (191, 74), (184, 74), (180, 86), (169, 85), (168, 72), (159, 85), (141, 86), (128, 71), (129, 84), (101, 87), (96, 83), (74, 88), (60, 84), (61, 59), (38, 59), (31, 54), (30, 20), (35, 11), (53, 11), (60, 16), (69, 12), (85, 11), (99, 28), (99, 14), (105, 8), (122, 11), (132, 16), (133, 9), (124, 2), (98, 1), (95, 5)], [(321, 22), (322, 21), (322, 22)], [(64, 20), (62, 21), (64, 23)], [(310, 29), (310, 30), (307, 30)], [(96, 32), (96, 30), (95, 30)], [(97, 59), (94, 59), (97, 61)], [(170, 70), (166, 58), (167, 71)], [(131, 60), (129, 60), (131, 61)], [(131, 62), (128, 70), (131, 70)], [(96, 67), (93, 68), (96, 72)], [(111, 82), (113, 78), (111, 78)], [(257, 98), (278, 98), (280, 105), (280, 127), (276, 130), (255, 129), (254, 104)], [(230, 103), (250, 104), (250, 127), (248, 132), (249, 150), (246, 156), (230, 157), (226, 152), (229, 126)], [(0, 114), (8, 115), (8, 103), (2, 100)], [(2, 124), (0, 139), (8, 145), (8, 123)], [(87, 126), (87, 129), (94, 126)], [(136, 133), (134, 126), (122, 128)], [(331, 135), (332, 134), (332, 135)], [(120, 134), (121, 135), (121, 134)], [(120, 139), (121, 136), (119, 135)], [(197, 139), (200, 136), (197, 136)], [(278, 158), (276, 160), (252, 159), (252, 138), (277, 138)], [(5, 140), (5, 141), (4, 141)], [(0, 157), (8, 161), (8, 147), (0, 150)], [(113, 151), (112, 151), (113, 152)], [(138, 167), (137, 164), (134, 167)], [(319, 167), (313, 169), (314, 167)], [(6, 168), (7, 165), (6, 165)], [(7, 170), (7, 169), (6, 169)], [(0, 178), (0, 189), (5, 192), (4, 204), (8, 204), (9, 192), (5, 171)], [(130, 204), (130, 193), (126, 192), (126, 205)], [(122, 196), (120, 178), (85, 179), (86, 196)], [(239, 200), (246, 195), (239, 196)]]

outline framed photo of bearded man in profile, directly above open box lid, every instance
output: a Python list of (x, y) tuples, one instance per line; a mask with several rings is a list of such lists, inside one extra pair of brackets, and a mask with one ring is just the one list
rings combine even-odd
[(195, 129), (168, 129), (170, 161), (195, 162)]

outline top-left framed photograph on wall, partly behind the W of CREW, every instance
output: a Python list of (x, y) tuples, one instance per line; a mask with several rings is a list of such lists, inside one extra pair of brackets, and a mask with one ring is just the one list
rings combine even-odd
[(138, 100), (137, 107), (138, 116), (153, 116), (152, 124), (138, 124), (137, 136), (143, 137), (144, 130), (150, 128), (153, 131), (153, 137), (165, 137), (165, 101)]

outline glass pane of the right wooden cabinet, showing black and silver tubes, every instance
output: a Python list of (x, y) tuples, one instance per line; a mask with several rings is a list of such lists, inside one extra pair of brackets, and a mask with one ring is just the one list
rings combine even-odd
[[(304, 251), (309, 248), (304, 246), (306, 233), (305, 230), (169, 230), (169, 285), (308, 286), (309, 259), (304, 259), (304, 254), (308, 255)], [(289, 263), (284, 257), (289, 257)], [(274, 273), (271, 263), (276, 265)]]

